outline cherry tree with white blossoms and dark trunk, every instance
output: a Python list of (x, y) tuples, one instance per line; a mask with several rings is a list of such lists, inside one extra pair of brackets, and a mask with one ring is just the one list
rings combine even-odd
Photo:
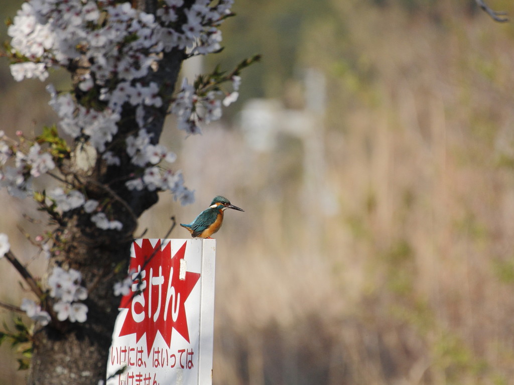
[[(46, 81), (56, 68), (72, 79), (69, 90), (47, 85), (56, 125), (33, 138), (0, 132), (0, 186), (32, 197), (53, 225), (32, 240), (48, 260), (44, 281), (0, 234), (0, 263), (10, 262), (38, 298), (18, 308), (34, 322), (26, 328), (29, 383), (105, 380), (117, 296), (133, 283), (126, 268), (138, 217), (158, 192), (194, 199), (172, 168), (176, 155), (159, 143), (164, 119), (173, 114), (179, 130), (199, 133), (237, 99), (241, 70), (259, 59), (175, 87), (184, 60), (222, 49), (218, 27), (232, 2), (29, 0), (10, 22), (4, 56), (15, 80)], [(43, 175), (51, 187), (34, 188)]]

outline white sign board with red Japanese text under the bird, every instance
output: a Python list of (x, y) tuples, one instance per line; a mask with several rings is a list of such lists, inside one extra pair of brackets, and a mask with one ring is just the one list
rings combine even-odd
[(216, 241), (134, 241), (107, 385), (212, 383)]

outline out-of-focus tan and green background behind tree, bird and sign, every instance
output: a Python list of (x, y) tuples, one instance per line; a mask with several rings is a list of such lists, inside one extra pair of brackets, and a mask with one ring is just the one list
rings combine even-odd
[[(3, 4), (2, 19), (20, 7)], [(511, 2), (489, 6), (514, 17)], [(514, 383), (514, 24), (473, 0), (233, 10), (225, 50), (185, 71), (262, 62), (203, 135), (170, 117), (163, 141), (196, 202), (162, 195), (139, 228), (161, 237), (217, 194), (245, 210), (216, 234), (213, 383)], [(15, 83), (5, 61), (0, 89), (1, 130), (56, 121), (44, 84)], [(23, 214), (41, 217), (1, 194), (0, 229), (37, 275), (23, 232), (41, 225)], [(19, 304), (20, 279), (0, 266), (0, 298)], [(0, 384), (24, 383), (0, 353)]]

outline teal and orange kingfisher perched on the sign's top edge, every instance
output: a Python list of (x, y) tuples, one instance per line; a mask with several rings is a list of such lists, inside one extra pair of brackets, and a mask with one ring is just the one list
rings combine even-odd
[(222, 227), (223, 211), (226, 209), (234, 209), (245, 211), (230, 203), (230, 200), (224, 196), (218, 195), (212, 199), (209, 208), (199, 213), (190, 224), (181, 223), (180, 226), (186, 228), (193, 238), (212, 239), (211, 235)]

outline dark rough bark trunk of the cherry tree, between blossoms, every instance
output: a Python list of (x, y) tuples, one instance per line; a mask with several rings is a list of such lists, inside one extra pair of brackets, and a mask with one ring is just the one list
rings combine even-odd
[[(162, 132), (184, 59), (183, 50), (164, 53), (158, 68), (147, 77), (148, 81), (157, 82), (165, 95), (161, 107), (145, 106), (145, 116), (150, 118), (145, 128), (153, 134), (155, 143)], [(115, 146), (117, 141), (124, 143), (127, 135), (137, 134), (139, 129), (132, 106), (124, 108), (121, 121), (113, 140)], [(83, 285), (88, 289), (88, 298), (84, 301), (88, 306), (87, 320), (51, 323), (36, 331), (29, 384), (96, 385), (106, 378), (108, 350), (121, 299), (114, 296), (113, 285), (126, 275), (137, 218), (158, 199), (155, 191), (128, 191), (124, 185), (126, 180), (116, 181), (120, 175), (130, 175), (136, 170), (124, 145), (118, 148), (122, 149), (116, 153), (121, 159), (120, 167), (101, 169), (98, 159), (93, 172), (83, 177), (89, 198), (112, 200), (115, 218), (122, 222), (123, 230), (100, 230), (91, 224), (88, 216), (70, 214), (67, 223), (54, 231), (64, 249), (52, 258), (49, 268), (58, 264), (82, 273)]]

